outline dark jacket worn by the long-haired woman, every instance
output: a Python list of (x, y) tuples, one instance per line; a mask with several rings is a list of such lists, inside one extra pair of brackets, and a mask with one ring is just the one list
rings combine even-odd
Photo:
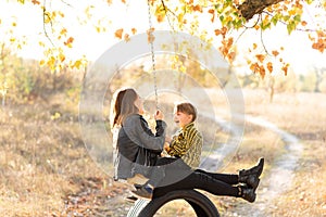
[(118, 131), (114, 178), (127, 179), (137, 173), (142, 174), (138, 167), (139, 161), (143, 164), (145, 155), (155, 158), (161, 154), (165, 141), (165, 122), (156, 120), (154, 135), (141, 115), (128, 116)]

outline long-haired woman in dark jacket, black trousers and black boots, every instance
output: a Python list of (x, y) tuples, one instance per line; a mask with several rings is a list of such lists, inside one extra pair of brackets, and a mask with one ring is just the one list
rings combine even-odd
[[(126, 94), (128, 92), (131, 94), (130, 97)], [(133, 107), (133, 110), (126, 110), (126, 107)], [(117, 178), (125, 179), (137, 173), (143, 174), (137, 169), (138, 166), (141, 166), (136, 163), (137, 155), (143, 156), (143, 153), (159, 155), (159, 152), (163, 150), (166, 127), (166, 124), (162, 120), (163, 114), (156, 112), (156, 135), (153, 135), (141, 117), (141, 113), (142, 103), (135, 90), (127, 89), (118, 92), (115, 101), (114, 118), (114, 123), (122, 126), (117, 139), (117, 164), (115, 164)], [(139, 152), (142, 149), (146, 151)], [(153, 192), (146, 197), (162, 196), (175, 190), (201, 189), (215, 195), (242, 197), (251, 203), (255, 201), (255, 189), (263, 170), (263, 158), (258, 166), (249, 170), (242, 169), (239, 175), (213, 174), (201, 169), (193, 170), (187, 164), (183, 164), (183, 161), (177, 162), (181, 166), (166, 167), (162, 182), (167, 184), (155, 187)], [(180, 174), (186, 176), (180, 176)], [(171, 180), (175, 181), (171, 182)]]

